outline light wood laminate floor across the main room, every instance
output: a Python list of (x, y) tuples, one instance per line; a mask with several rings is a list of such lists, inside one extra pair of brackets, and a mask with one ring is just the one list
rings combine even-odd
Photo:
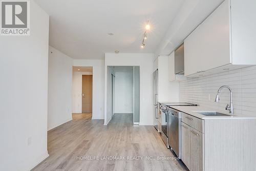
[(166, 156), (167, 149), (154, 126), (133, 125), (132, 114), (103, 120), (75, 119), (48, 132), (49, 157), (33, 170), (187, 170), (177, 160), (77, 160), (77, 156)]

